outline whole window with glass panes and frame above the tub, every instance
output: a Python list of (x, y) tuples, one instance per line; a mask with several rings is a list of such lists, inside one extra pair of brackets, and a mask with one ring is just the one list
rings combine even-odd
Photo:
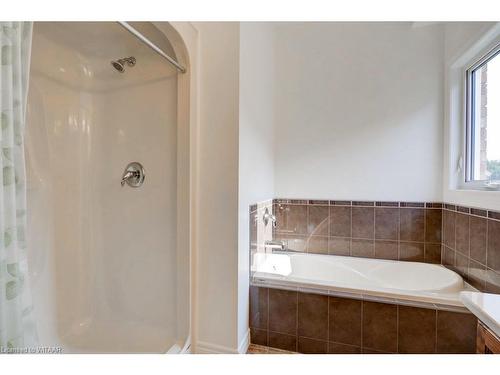
[(500, 187), (500, 45), (466, 71), (467, 185)]

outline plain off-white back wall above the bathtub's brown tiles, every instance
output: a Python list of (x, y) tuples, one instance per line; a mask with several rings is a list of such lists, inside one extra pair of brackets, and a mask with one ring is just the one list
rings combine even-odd
[(279, 24), (276, 196), (439, 201), (442, 39), (411, 22)]

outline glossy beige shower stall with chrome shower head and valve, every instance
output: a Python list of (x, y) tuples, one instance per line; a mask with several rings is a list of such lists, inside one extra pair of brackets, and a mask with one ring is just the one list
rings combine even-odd
[(25, 149), (40, 345), (189, 346), (189, 132), (178, 51), (147, 22), (34, 24)]

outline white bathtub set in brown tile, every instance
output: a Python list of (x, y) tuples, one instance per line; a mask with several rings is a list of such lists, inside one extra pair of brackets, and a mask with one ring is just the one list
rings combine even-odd
[(252, 284), (432, 308), (463, 308), (473, 289), (436, 264), (317, 254), (254, 254)]

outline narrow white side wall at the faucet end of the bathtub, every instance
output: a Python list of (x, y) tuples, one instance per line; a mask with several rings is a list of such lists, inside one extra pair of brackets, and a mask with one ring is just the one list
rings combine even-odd
[(274, 196), (274, 28), (240, 25), (238, 342), (248, 332), (249, 206)]

